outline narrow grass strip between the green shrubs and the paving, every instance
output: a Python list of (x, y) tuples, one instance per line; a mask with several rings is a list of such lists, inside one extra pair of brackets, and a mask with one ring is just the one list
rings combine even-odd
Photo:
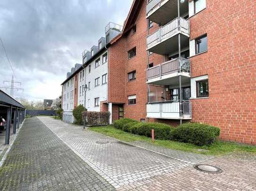
[[(181, 150), (185, 152), (192, 152), (192, 153), (200, 153), (205, 155), (223, 155), (227, 153), (233, 152), (248, 152), (248, 153), (255, 153), (256, 154), (256, 146), (250, 145), (243, 145), (237, 143), (230, 143), (230, 142), (222, 142), (218, 141), (213, 145), (210, 146), (196, 146), (189, 143), (180, 143), (177, 141), (170, 141), (170, 140), (155, 140), (155, 143), (152, 143), (151, 138), (134, 135), (131, 133), (124, 132), (123, 130), (118, 130), (114, 128), (112, 125), (104, 126), (104, 127), (91, 127), (90, 130), (101, 133), (103, 135), (107, 135), (112, 138), (116, 138), (121, 141), (125, 142), (132, 142), (132, 141), (147, 141), (153, 145), (163, 146), (174, 150)], [(198, 149), (204, 149), (206, 151), (198, 151)]]

